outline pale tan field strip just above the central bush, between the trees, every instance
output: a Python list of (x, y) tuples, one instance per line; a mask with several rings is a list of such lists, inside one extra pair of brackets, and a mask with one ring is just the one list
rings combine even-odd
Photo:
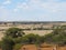
[(53, 30), (25, 30), (25, 34), (29, 34), (29, 33), (34, 33), (34, 34), (40, 34), (40, 36), (44, 36), (44, 34), (47, 34), (47, 33), (51, 33)]

